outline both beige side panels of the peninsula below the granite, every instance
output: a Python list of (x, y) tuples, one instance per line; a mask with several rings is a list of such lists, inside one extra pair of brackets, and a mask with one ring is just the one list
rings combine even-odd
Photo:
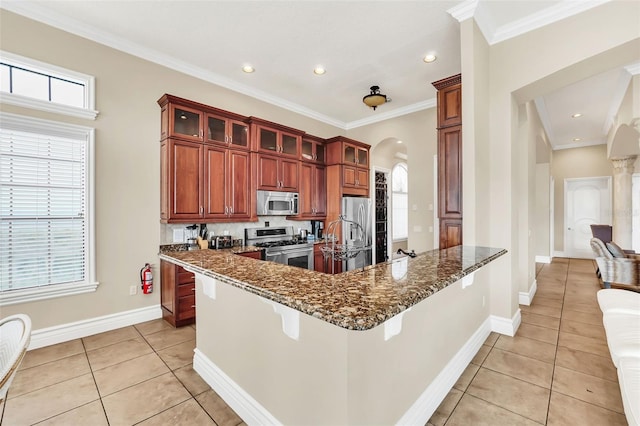
[(303, 313), (294, 340), (259, 296), (217, 281), (212, 299), (201, 277), (198, 350), (283, 424), (395, 424), (489, 316), (481, 269), (414, 305), (388, 340), (384, 324), (347, 330)]

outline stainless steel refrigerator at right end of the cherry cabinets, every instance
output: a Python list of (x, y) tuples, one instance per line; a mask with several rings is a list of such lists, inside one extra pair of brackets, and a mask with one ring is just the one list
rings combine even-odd
[(359, 253), (353, 259), (347, 259), (342, 264), (343, 271), (362, 268), (371, 265), (371, 199), (362, 197), (342, 197), (342, 216), (346, 220), (358, 223), (362, 229), (349, 222), (342, 225), (342, 244), (366, 246), (368, 249)]

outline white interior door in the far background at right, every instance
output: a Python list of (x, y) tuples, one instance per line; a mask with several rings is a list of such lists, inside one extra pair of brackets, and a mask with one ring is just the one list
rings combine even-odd
[(611, 224), (611, 177), (565, 179), (565, 255), (593, 259), (592, 224)]

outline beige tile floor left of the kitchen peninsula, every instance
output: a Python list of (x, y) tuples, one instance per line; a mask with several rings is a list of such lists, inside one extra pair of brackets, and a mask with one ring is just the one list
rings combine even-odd
[(0, 424), (244, 425), (193, 371), (195, 338), (155, 320), (29, 351)]

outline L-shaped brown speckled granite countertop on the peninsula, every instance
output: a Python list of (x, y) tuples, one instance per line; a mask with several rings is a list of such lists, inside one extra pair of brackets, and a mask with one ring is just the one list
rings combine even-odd
[(165, 251), (160, 259), (349, 330), (368, 330), (507, 253), (457, 246), (338, 275), (236, 256), (257, 248)]

